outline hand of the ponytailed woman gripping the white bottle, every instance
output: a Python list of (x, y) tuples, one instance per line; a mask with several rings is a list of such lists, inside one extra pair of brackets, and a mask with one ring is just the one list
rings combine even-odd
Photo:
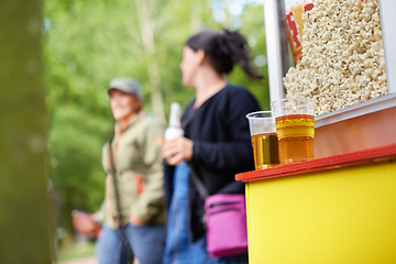
[(163, 146), (163, 157), (168, 165), (177, 165), (183, 161), (191, 161), (194, 142), (180, 136), (167, 140)]

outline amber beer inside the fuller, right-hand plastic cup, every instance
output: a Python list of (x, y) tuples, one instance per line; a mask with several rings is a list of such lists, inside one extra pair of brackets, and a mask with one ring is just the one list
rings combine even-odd
[(314, 116), (286, 114), (276, 118), (280, 164), (314, 160)]

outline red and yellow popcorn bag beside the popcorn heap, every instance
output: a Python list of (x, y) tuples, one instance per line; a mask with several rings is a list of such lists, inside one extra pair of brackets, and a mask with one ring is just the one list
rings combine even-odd
[(302, 1), (290, 7), (285, 16), (288, 43), (293, 53), (295, 65), (301, 59), (302, 50), (302, 13), (311, 10), (314, 3), (311, 1)]

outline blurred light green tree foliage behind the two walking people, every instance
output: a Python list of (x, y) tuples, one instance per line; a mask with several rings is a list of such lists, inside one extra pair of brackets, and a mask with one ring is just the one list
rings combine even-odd
[[(72, 233), (74, 208), (96, 210), (103, 198), (101, 146), (112, 136), (107, 88), (118, 76), (136, 78), (144, 110), (164, 125), (172, 101), (184, 107), (194, 89), (182, 86), (179, 63), (186, 38), (200, 29), (241, 29), (266, 74), (263, 7), (241, 4), (228, 22), (216, 16), (219, 0), (47, 0), (44, 44), (51, 164)], [(219, 4), (218, 4), (219, 6)], [(230, 10), (228, 7), (222, 8)], [(262, 59), (260, 59), (262, 58)], [(264, 62), (264, 63), (263, 63)], [(246, 86), (267, 105), (267, 82), (251, 82), (235, 69), (230, 81)]]

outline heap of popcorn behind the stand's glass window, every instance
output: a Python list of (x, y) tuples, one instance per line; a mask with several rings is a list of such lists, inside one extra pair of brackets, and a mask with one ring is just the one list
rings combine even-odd
[(286, 97), (315, 98), (316, 116), (387, 94), (377, 0), (315, 0), (301, 14), (302, 56)]

